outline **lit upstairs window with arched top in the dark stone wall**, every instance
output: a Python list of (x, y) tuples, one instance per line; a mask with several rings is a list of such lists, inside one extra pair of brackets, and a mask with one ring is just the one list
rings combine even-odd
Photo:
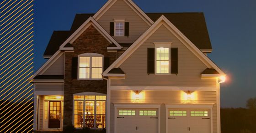
[(79, 55), (79, 79), (101, 79), (103, 56), (95, 53)]

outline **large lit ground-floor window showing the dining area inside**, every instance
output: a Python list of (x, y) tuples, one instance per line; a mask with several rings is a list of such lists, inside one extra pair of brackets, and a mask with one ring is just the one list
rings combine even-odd
[(105, 128), (106, 96), (74, 95), (75, 128)]

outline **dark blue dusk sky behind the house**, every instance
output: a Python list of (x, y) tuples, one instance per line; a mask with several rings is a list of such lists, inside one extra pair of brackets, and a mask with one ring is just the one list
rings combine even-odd
[[(68, 31), (75, 14), (96, 13), (107, 0), (35, 0), (35, 71), (53, 31)], [(203, 12), (213, 52), (226, 74), (221, 107), (245, 107), (256, 97), (256, 0), (133, 0), (144, 12)]]

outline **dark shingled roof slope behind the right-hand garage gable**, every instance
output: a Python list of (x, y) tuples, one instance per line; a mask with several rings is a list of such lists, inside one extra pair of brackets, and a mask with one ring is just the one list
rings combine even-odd
[(212, 45), (203, 12), (146, 14), (153, 21), (158, 20), (161, 15), (164, 15), (200, 50), (208, 50), (208, 52), (211, 52)]

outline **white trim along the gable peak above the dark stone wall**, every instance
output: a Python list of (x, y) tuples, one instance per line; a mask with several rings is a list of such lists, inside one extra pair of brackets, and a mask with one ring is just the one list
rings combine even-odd
[(112, 38), (112, 36), (110, 36), (107, 31), (105, 31), (97, 22), (96, 20), (94, 20), (92, 17), (88, 18), (71, 36), (69, 36), (69, 38), (64, 41), (61, 46), (59, 46), (60, 50), (66, 50), (64, 48), (64, 46), (67, 43), (73, 43), (89, 26), (94, 26), (97, 31), (99, 31), (101, 33), (102, 36), (104, 36), (107, 41), (109, 41), (110, 43), (114, 43), (118, 48), (122, 49), (122, 46), (120, 46), (116, 40), (114, 40)]

